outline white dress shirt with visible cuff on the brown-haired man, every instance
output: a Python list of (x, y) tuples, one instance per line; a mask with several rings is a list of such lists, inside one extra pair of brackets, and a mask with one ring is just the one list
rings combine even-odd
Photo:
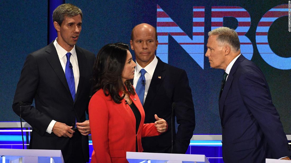
[[(56, 38), (56, 40), (57, 39), (58, 38)], [(56, 52), (58, 53), (58, 58), (60, 59), (61, 65), (62, 65), (63, 70), (64, 70), (64, 73), (65, 73), (65, 68), (66, 68), (66, 63), (67, 63), (67, 56), (66, 56), (66, 54), (68, 52), (63, 47), (61, 47), (61, 45), (59, 45), (56, 40), (54, 41), (54, 46), (56, 47)], [(78, 59), (77, 59), (77, 53), (76, 53), (75, 46), (70, 51), (70, 53), (72, 54), (70, 56), (70, 62), (72, 64), (72, 66), (73, 66), (73, 73), (74, 73), (74, 79), (75, 79), (75, 91), (76, 91), (75, 93), (77, 93), (80, 72), (79, 72), (79, 65), (78, 65)], [(55, 123), (56, 123), (55, 120), (52, 120), (49, 123), (49, 126), (47, 127), (47, 130), (46, 130), (47, 133), (52, 133), (52, 129), (53, 129)]]

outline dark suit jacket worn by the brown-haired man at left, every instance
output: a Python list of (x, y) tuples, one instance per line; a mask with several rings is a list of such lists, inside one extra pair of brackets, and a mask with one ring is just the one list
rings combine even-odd
[[(30, 149), (61, 149), (64, 160), (70, 157), (70, 138), (47, 133), (52, 120), (72, 126), (86, 120), (88, 111), (90, 82), (95, 55), (78, 46), (76, 48), (79, 65), (79, 84), (75, 101), (68, 87), (53, 42), (29, 54), (21, 71), (13, 101), (13, 111), (19, 115), (18, 102), (22, 101), (22, 118), (32, 127)], [(33, 99), (35, 107), (31, 106)], [(89, 161), (88, 136), (80, 136), (85, 160)]]

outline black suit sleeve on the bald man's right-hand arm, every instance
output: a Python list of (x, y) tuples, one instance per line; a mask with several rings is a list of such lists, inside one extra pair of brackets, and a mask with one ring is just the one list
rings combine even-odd
[[(177, 118), (178, 131), (174, 140), (174, 153), (186, 153), (190, 139), (193, 136), (195, 129), (195, 113), (192, 100), (191, 88), (186, 72), (180, 72), (177, 76), (177, 83), (175, 85), (173, 102), (176, 103), (174, 110)], [(175, 125), (175, 124), (172, 124)]]

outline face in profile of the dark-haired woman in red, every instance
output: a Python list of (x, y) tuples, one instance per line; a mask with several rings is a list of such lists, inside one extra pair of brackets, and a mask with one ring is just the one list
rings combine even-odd
[(125, 65), (121, 74), (123, 83), (125, 82), (125, 80), (128, 79), (133, 79), (134, 78), (134, 68), (135, 68), (136, 64), (134, 63), (134, 61), (132, 60), (132, 55), (129, 52), (129, 50), (127, 50), (127, 56), (126, 56), (126, 60), (125, 60)]

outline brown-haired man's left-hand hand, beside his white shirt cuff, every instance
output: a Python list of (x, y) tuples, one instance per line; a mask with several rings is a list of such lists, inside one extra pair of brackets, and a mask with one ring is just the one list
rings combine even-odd
[(68, 126), (61, 122), (56, 122), (54, 124), (54, 127), (52, 129), (52, 132), (57, 135), (58, 137), (66, 137), (66, 138), (72, 138), (73, 133), (75, 133), (74, 130), (72, 130), (72, 126)]

